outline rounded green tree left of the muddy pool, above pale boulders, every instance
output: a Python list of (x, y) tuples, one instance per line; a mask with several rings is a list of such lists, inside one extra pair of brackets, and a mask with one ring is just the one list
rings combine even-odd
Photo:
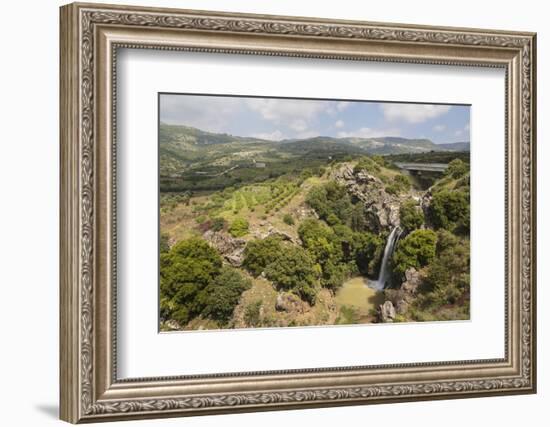
[(300, 246), (285, 248), (268, 265), (265, 273), (277, 289), (291, 291), (310, 304), (315, 304), (318, 290), (315, 262)]

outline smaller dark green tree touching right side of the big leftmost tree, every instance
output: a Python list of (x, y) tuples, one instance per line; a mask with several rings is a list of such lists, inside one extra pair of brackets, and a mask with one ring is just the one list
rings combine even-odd
[(198, 303), (203, 306), (201, 314), (226, 324), (231, 319), (241, 294), (251, 286), (252, 282), (237, 270), (223, 267), (220, 274), (197, 296)]

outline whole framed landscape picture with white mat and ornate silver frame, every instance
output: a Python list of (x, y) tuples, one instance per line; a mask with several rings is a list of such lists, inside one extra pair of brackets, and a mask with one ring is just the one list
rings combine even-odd
[(63, 6), (61, 418), (534, 393), (535, 39)]

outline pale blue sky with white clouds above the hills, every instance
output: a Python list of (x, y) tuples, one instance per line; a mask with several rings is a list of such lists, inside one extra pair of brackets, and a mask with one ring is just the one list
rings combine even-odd
[(276, 141), (319, 135), (470, 140), (464, 105), (161, 94), (160, 120)]

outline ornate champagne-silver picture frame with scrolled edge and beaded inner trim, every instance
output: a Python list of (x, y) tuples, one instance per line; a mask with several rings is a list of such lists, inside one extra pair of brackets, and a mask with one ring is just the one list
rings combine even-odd
[[(61, 419), (96, 422), (536, 391), (535, 34), (79, 3), (63, 6), (60, 18)], [(504, 70), (504, 357), (120, 379), (119, 49)]]

